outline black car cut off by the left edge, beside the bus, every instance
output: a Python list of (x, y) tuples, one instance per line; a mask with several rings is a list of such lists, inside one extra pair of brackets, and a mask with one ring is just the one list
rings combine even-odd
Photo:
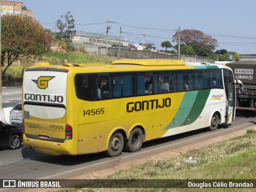
[(5, 124), (0, 121), (0, 145), (8, 144), (10, 149), (20, 148), (22, 128), (18, 125)]

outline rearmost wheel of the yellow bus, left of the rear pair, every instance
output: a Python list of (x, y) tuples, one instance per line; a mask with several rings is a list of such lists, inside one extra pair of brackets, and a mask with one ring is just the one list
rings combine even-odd
[(109, 140), (108, 150), (105, 151), (105, 154), (109, 157), (118, 156), (121, 154), (123, 147), (124, 137), (119, 131), (116, 131)]

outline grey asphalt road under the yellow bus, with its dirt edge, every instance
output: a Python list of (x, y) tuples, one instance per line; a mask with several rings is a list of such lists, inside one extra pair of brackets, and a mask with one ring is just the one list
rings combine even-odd
[(254, 125), (254, 113), (250, 113), (249, 116), (238, 114), (235, 122), (227, 126), (221, 126), (214, 132), (201, 129), (152, 140), (145, 142), (138, 152), (122, 152), (120, 156), (114, 158), (107, 158), (104, 153), (80, 156), (50, 156), (34, 152), (23, 146), (18, 150), (8, 150), (6, 146), (2, 146), (0, 147), (0, 179), (62, 179), (72, 177)]

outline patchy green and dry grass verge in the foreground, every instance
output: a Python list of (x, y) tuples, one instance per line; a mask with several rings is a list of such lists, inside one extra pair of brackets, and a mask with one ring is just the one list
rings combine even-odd
[[(187, 163), (186, 160), (196, 163)], [(256, 132), (190, 150), (165, 160), (150, 161), (121, 170), (106, 179), (255, 179)], [(82, 191), (255, 191), (255, 188), (83, 188), (82, 184), (58, 192)]]

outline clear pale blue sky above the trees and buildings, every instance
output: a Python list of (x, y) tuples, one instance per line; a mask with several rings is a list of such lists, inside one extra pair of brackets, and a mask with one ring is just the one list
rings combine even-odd
[(255, 0), (20, 0), (36, 19), (54, 32), (54, 22), (68, 11), (78, 31), (106, 32), (106, 20), (114, 21), (110, 35), (122, 36), (130, 42), (146, 42), (161, 47), (181, 30), (196, 29), (218, 40), (216, 50), (238, 54), (256, 54)]

